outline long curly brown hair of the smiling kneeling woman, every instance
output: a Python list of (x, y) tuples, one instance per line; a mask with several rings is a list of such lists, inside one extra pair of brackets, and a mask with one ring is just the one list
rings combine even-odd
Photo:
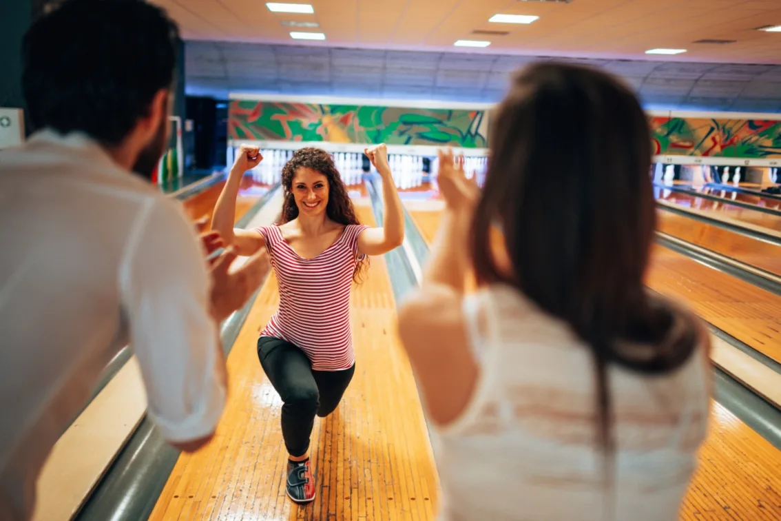
[[(293, 177), (299, 168), (311, 168), (322, 173), (328, 179), (328, 204), (326, 205), (326, 216), (334, 223), (360, 224), (358, 217), (355, 216), (355, 207), (352, 205), (350, 196), (347, 193), (347, 187), (341, 180), (341, 174), (337, 166), (333, 163), (333, 157), (322, 148), (305, 147), (299, 148), (294, 152), (290, 161), (282, 167), (282, 189), (284, 192), (284, 201), (282, 202), (282, 212), (276, 218), (276, 224), (289, 223), (298, 217), (298, 205), (295, 204), (293, 195)], [(352, 274), (352, 280), (360, 284), (362, 275), (369, 269), (369, 257), (358, 260), (355, 265), (355, 272)]]

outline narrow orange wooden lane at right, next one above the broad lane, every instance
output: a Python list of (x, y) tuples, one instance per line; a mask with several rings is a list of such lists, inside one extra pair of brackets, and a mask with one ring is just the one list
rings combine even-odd
[(658, 229), (665, 234), (781, 275), (781, 246), (778, 244), (759, 241), (665, 210), (658, 211), (657, 216)]

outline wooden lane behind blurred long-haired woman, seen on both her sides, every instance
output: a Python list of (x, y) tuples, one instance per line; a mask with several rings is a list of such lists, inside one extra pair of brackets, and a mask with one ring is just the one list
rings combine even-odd
[[(426, 241), (432, 241), (440, 212), (419, 207), (410, 214)], [(781, 519), (778, 461), (772, 444), (714, 403), (708, 438), (679, 519)]]

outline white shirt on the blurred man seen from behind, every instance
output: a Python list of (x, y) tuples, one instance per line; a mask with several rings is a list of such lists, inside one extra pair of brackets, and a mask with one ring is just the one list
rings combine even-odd
[(0, 519), (27, 519), (59, 435), (130, 343), (169, 441), (211, 434), (226, 390), (209, 274), (180, 203), (84, 135), (0, 152)]

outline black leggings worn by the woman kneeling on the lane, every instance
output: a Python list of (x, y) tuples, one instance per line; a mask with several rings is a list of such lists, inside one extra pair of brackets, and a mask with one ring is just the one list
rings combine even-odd
[(282, 437), (288, 454), (309, 450), (315, 415), (324, 418), (337, 408), (355, 373), (355, 364), (341, 371), (314, 371), (296, 345), (279, 338), (260, 337), (258, 358), (282, 398)]

